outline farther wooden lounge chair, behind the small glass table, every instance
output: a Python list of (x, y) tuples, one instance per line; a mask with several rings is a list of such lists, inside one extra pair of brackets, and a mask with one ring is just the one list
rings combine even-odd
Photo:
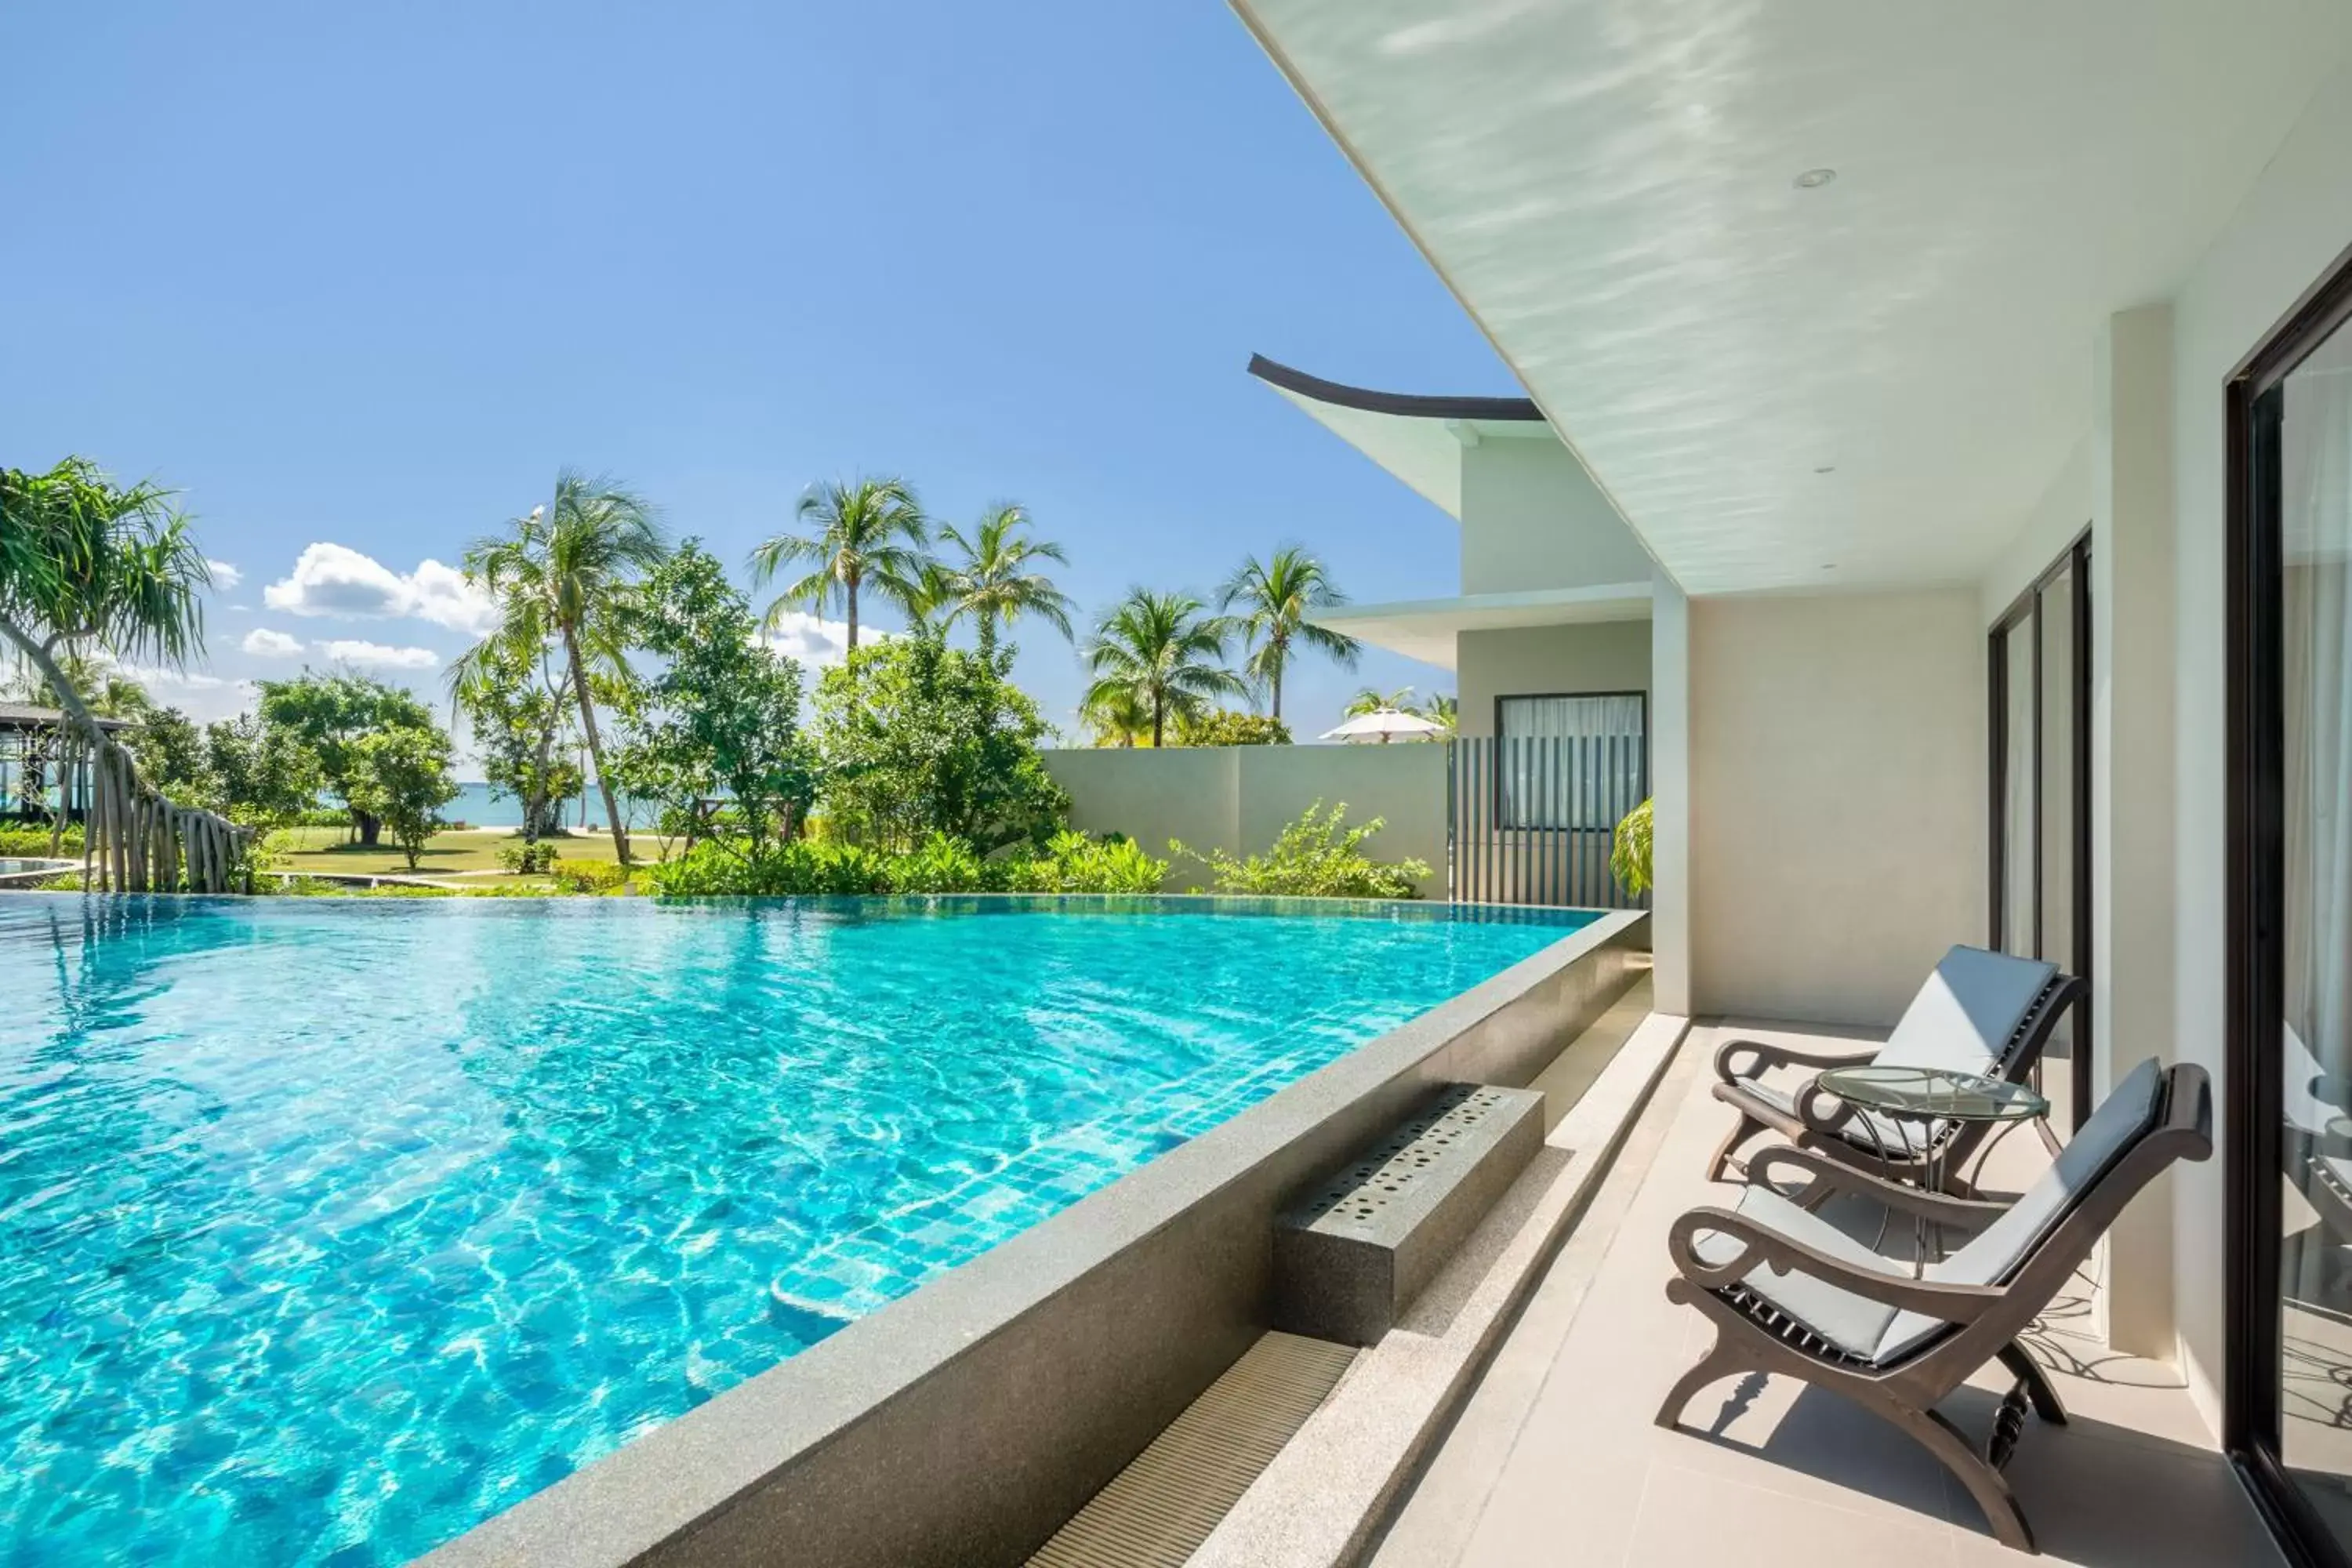
[(1933, 1157), (1947, 1192), (1973, 1197), (1962, 1173), (1992, 1133), (1987, 1121), (1898, 1121), (1846, 1105), (1816, 1081), (1766, 1084), (1776, 1067), (1940, 1067), (2023, 1081), (2051, 1030), (2082, 997), (2084, 983), (2056, 964), (2013, 959), (1983, 947), (1952, 947), (1936, 964), (1903, 1023), (1879, 1046), (1846, 1053), (1795, 1051), (1762, 1039), (1731, 1039), (1715, 1053), (1715, 1098), (1740, 1114), (1715, 1150), (1708, 1180), (1724, 1180), (1731, 1157), (1762, 1131), (1875, 1175), (1919, 1175)]

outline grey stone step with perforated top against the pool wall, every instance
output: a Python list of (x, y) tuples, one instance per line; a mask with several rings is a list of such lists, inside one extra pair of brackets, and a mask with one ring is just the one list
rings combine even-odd
[(1541, 1147), (1534, 1088), (1439, 1091), (1275, 1225), (1275, 1326), (1376, 1345)]

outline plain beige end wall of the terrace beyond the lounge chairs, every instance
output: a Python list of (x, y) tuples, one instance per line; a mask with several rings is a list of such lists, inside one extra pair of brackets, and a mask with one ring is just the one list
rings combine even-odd
[(1985, 931), (1976, 590), (1691, 599), (1686, 844), (1693, 1011), (1891, 1025)]

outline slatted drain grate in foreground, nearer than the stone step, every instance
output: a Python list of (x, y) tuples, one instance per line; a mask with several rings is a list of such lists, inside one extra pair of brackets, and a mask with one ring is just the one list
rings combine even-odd
[(1028, 1568), (1178, 1568), (1275, 1462), (1355, 1349), (1268, 1333), (1110, 1479)]

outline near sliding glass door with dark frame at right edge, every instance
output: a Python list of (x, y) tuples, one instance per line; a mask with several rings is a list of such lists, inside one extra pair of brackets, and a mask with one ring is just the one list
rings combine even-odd
[(2314, 1563), (2352, 1561), (2345, 315), (2352, 275), (2232, 388), (2230, 1446)]

